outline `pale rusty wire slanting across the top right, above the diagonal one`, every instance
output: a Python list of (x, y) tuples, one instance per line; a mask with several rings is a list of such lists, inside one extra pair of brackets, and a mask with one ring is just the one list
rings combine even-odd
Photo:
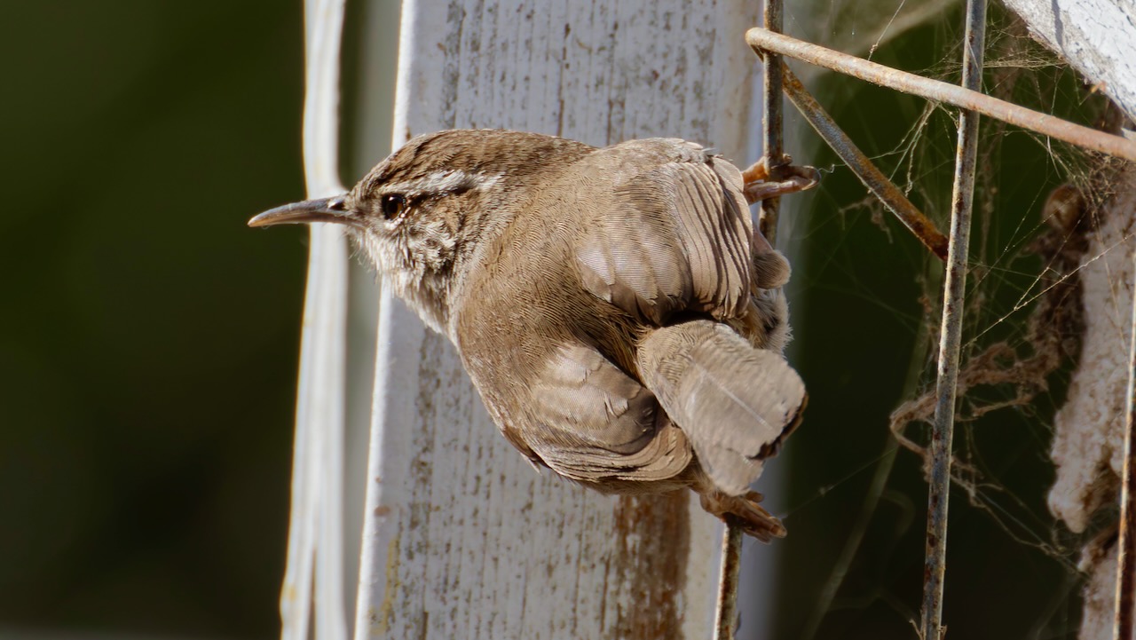
[(1049, 114), (1019, 107), (971, 89), (869, 63), (863, 58), (833, 51), (763, 28), (751, 28), (746, 32), (745, 40), (759, 55), (762, 51), (780, 53), (880, 86), (977, 111), (984, 116), (1064, 140), (1086, 149), (1136, 161), (1136, 143), (1119, 135), (1111, 135)]

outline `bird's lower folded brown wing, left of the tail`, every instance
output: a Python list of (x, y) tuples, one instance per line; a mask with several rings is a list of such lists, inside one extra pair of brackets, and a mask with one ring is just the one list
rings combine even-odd
[(563, 344), (527, 388), (525, 444), (580, 482), (658, 482), (691, 462), (683, 432), (654, 394), (594, 349)]

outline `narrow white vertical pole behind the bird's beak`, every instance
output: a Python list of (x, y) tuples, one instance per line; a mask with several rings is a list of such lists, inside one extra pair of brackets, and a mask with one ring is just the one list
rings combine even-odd
[[(304, 176), (308, 197), (319, 198), (343, 191), (337, 168), (343, 0), (307, 0), (304, 18)], [(308, 639), (314, 598), (317, 640), (339, 640), (348, 634), (341, 471), (345, 332), (346, 243), (339, 228), (311, 225), (287, 568), (281, 592), (281, 637), (285, 640)]]

